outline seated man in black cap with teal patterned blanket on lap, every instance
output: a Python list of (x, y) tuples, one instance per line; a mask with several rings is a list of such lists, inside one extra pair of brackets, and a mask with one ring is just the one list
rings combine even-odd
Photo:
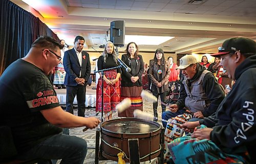
[[(255, 163), (256, 43), (249, 38), (231, 38), (211, 56), (221, 57), (221, 65), (236, 83), (214, 115), (181, 125), (186, 131), (201, 128), (170, 143), (173, 160), (188, 163), (187, 157), (191, 157), (194, 163)], [(195, 152), (195, 147), (204, 152)], [(183, 151), (186, 153), (180, 156)]]

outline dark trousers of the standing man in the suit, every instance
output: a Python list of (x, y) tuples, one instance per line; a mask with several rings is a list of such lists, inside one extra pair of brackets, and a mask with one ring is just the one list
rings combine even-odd
[(86, 85), (67, 86), (66, 111), (71, 114), (74, 114), (73, 102), (75, 96), (77, 99), (77, 115), (84, 117), (84, 112), (86, 111)]

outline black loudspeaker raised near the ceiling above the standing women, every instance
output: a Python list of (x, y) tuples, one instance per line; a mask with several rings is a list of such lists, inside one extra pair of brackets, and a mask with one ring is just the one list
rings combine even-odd
[(110, 41), (115, 46), (124, 46), (125, 22), (124, 20), (116, 20), (110, 23)]

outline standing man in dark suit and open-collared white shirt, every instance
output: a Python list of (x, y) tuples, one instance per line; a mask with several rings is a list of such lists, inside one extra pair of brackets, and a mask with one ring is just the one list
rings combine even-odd
[(73, 114), (73, 101), (76, 96), (78, 116), (84, 117), (86, 108), (86, 83), (91, 73), (89, 53), (83, 51), (84, 38), (77, 36), (74, 48), (64, 54), (63, 65), (66, 71), (65, 85), (67, 86), (66, 111)]

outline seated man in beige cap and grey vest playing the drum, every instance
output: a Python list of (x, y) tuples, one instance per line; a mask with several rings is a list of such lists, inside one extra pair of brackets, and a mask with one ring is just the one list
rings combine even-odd
[(162, 114), (162, 123), (166, 127), (168, 119), (182, 115), (188, 109), (194, 113), (190, 121), (196, 121), (215, 113), (225, 94), (215, 76), (198, 64), (193, 55), (180, 59), (181, 78), (180, 96), (175, 104), (169, 105), (170, 111)]

